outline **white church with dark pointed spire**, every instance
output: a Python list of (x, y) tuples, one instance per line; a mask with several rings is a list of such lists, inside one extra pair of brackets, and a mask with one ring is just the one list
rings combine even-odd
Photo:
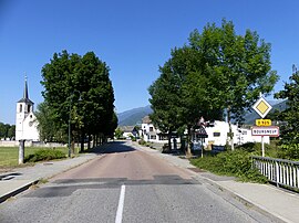
[(16, 140), (40, 141), (34, 103), (29, 99), (27, 78), (23, 97), (17, 103)]

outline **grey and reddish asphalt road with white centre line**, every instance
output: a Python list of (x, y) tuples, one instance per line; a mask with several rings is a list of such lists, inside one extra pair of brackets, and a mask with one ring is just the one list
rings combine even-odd
[(124, 142), (0, 205), (0, 222), (270, 222)]

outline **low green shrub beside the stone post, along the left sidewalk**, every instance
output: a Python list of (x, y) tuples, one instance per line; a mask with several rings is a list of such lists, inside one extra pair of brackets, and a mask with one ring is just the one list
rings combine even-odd
[(25, 162), (37, 162), (44, 160), (53, 160), (65, 158), (65, 153), (60, 150), (40, 149), (33, 155), (29, 155), (24, 158)]

